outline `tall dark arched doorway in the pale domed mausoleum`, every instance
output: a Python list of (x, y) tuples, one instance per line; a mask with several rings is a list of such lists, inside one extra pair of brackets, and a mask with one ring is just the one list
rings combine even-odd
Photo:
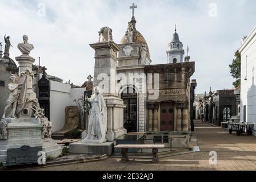
[(123, 104), (126, 105), (123, 109), (123, 127), (127, 133), (138, 131), (138, 94), (135, 88), (127, 86), (122, 90), (121, 98)]

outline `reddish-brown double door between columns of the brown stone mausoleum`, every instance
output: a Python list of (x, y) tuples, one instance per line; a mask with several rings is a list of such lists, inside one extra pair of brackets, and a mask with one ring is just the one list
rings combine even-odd
[(161, 131), (174, 131), (174, 102), (161, 103)]

